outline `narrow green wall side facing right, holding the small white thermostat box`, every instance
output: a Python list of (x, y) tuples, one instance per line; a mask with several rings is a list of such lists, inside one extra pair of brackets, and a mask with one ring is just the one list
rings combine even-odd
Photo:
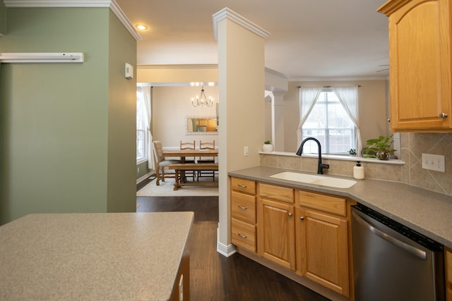
[(111, 11), (109, 25), (107, 211), (136, 211), (136, 75), (124, 78), (125, 63), (136, 66), (136, 41)]

